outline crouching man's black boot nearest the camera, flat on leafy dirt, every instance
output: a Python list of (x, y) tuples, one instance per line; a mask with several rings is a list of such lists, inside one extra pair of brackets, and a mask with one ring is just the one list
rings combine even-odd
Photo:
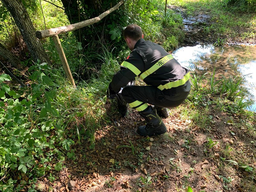
[(145, 111), (139, 112), (142, 117), (145, 118), (147, 124), (144, 126), (139, 126), (137, 132), (142, 136), (153, 136), (160, 135), (165, 133), (166, 127), (162, 119), (156, 114), (156, 109), (153, 109), (151, 106)]

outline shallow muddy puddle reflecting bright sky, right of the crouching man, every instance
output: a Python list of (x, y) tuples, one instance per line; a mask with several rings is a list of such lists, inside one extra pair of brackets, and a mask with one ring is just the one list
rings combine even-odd
[(214, 47), (212, 45), (196, 45), (181, 47), (172, 53), (182, 66), (196, 70), (198, 74), (213, 72), (216, 77), (242, 75), (246, 79), (245, 86), (250, 89), (255, 101), (250, 110), (256, 111), (256, 46), (233, 45)]

